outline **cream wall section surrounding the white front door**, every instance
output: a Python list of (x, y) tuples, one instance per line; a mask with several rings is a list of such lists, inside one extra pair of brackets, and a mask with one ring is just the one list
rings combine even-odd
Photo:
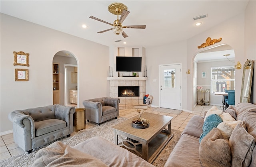
[(152, 106), (159, 106), (159, 65), (181, 63), (182, 109), (187, 108), (186, 41), (146, 48), (147, 76), (146, 93), (153, 96)]

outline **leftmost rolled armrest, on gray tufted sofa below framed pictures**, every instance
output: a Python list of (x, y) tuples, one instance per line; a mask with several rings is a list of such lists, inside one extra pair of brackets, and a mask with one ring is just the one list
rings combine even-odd
[[(12, 121), (13, 124), (13, 128), (15, 128), (16, 126), (19, 127), (19, 129), (22, 129), (23, 132), (20, 133), (30, 133), (28, 131), (31, 131), (31, 138), (35, 138), (36, 136), (36, 132), (35, 132), (35, 122), (33, 120), (33, 118), (29, 115), (24, 114), (22, 111), (20, 110), (16, 110), (11, 112), (10, 114), (8, 114), (8, 119), (10, 121)], [(25, 127), (25, 122), (30, 122), (30, 127)]]

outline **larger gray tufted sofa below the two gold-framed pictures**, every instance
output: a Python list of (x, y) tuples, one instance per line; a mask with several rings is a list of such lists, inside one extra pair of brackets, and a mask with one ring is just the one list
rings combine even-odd
[(13, 126), (13, 138), (20, 148), (32, 149), (50, 143), (73, 132), (74, 107), (50, 106), (16, 110), (8, 115)]

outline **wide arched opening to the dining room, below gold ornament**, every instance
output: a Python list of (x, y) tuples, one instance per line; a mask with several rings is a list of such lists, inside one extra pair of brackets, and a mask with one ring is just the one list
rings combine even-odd
[[(224, 56), (228, 55), (228, 56)], [(214, 95), (214, 81), (212, 79), (211, 70), (213, 67), (234, 67), (235, 54), (234, 49), (226, 44), (211, 47), (204, 51), (199, 52), (194, 57), (194, 69), (193, 69), (193, 104), (194, 107), (198, 104), (198, 86), (201, 86), (203, 90), (209, 90), (209, 101), (211, 105), (222, 105), (222, 96)], [(234, 83), (234, 82), (233, 82)], [(222, 85), (221, 85), (222, 86)], [(234, 88), (234, 84), (231, 86)], [(224, 87), (221, 87), (224, 90)], [(205, 100), (205, 99), (204, 99)], [(201, 103), (200, 103), (201, 104)]]

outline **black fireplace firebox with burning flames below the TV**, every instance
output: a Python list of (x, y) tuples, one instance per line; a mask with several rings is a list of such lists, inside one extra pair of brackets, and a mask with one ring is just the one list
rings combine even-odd
[(118, 86), (118, 97), (139, 97), (140, 86)]

